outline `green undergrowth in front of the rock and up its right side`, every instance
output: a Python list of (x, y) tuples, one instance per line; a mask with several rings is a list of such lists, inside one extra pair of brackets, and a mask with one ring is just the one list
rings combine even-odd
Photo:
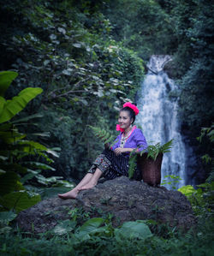
[[(212, 255), (213, 183), (198, 189), (180, 189), (193, 206), (197, 223), (189, 230), (154, 220), (139, 220), (113, 227), (112, 215), (90, 218), (74, 208), (54, 229), (35, 234), (23, 232), (7, 219), (0, 229), (1, 255)], [(82, 224), (83, 223), (83, 224)], [(4, 227), (3, 227), (4, 226)]]

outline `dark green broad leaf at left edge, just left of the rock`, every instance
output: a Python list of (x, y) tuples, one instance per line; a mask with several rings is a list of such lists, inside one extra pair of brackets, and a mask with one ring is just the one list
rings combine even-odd
[(17, 213), (23, 211), (41, 200), (41, 197), (37, 193), (27, 193), (27, 191), (19, 191), (7, 193), (0, 198), (0, 205), (3, 205), (5, 209), (15, 209)]

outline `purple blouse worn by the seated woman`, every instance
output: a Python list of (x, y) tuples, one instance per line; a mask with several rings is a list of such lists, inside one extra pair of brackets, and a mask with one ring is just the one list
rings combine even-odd
[[(122, 138), (122, 133), (120, 133), (116, 137), (116, 144), (111, 147), (111, 150), (114, 151), (117, 147), (120, 147), (121, 138)], [(123, 148), (136, 148), (138, 146), (140, 146), (138, 151), (142, 151), (146, 149), (147, 147), (146, 138), (144, 137), (144, 134), (142, 133), (140, 128), (134, 128), (134, 131), (128, 137), (128, 140), (126, 141)]]

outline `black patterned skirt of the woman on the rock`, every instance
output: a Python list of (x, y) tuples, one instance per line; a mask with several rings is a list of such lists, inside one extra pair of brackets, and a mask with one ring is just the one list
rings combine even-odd
[[(103, 172), (103, 176), (107, 180), (113, 180), (118, 176), (128, 176), (129, 155), (116, 155), (110, 149), (105, 149), (98, 158), (92, 163), (89, 173), (94, 173), (98, 168)], [(136, 168), (134, 171), (134, 179), (141, 180), (140, 171)]]

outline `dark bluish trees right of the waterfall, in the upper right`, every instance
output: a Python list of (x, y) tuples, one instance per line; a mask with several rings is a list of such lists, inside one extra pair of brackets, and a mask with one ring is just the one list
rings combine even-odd
[(180, 42), (176, 62), (182, 74), (181, 118), (195, 134), (213, 122), (213, 9), (207, 1), (193, 0), (175, 2), (171, 12)]

